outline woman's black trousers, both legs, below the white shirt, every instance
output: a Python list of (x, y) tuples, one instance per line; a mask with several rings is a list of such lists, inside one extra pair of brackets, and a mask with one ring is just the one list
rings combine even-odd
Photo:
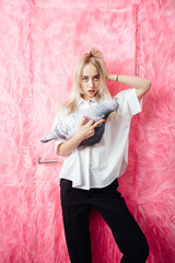
[(115, 241), (124, 254), (120, 262), (145, 263), (149, 245), (128, 210), (124, 197), (117, 191), (118, 180), (104, 188), (88, 191), (73, 188), (71, 181), (61, 179), (60, 187), (65, 233), (71, 263), (92, 262), (89, 229), (92, 206), (112, 229)]

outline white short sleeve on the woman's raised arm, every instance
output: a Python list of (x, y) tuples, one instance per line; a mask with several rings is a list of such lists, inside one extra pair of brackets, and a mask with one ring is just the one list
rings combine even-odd
[(119, 104), (119, 112), (124, 111), (124, 107), (126, 106), (125, 102), (127, 102), (131, 116), (142, 111), (142, 100), (138, 100), (135, 88), (121, 91), (115, 98)]

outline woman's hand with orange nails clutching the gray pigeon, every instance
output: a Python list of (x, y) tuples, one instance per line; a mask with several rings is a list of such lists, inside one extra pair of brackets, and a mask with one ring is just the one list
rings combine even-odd
[(95, 128), (104, 122), (105, 122), (105, 119), (101, 119), (101, 121), (94, 123), (94, 119), (90, 119), (86, 124), (84, 124), (85, 123), (85, 116), (83, 116), (75, 136), (81, 141), (85, 140), (85, 139), (94, 136)]

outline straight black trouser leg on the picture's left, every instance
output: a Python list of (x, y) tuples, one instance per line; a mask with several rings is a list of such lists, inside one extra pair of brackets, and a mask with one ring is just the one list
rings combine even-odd
[[(90, 210), (82, 190), (72, 188), (71, 182), (61, 180), (61, 206), (65, 233), (71, 263), (91, 263)], [(89, 193), (88, 193), (89, 194)]]

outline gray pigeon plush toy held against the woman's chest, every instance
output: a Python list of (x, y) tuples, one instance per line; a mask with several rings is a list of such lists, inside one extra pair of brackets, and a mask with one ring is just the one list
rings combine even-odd
[[(48, 134), (42, 142), (47, 142), (52, 139), (57, 138), (63, 138), (69, 139), (73, 135), (75, 135), (78, 127), (83, 118), (85, 116), (85, 123), (88, 123), (90, 119), (93, 119), (94, 123), (101, 121), (101, 119), (107, 119), (108, 115), (112, 112), (116, 112), (118, 110), (118, 102), (115, 98), (112, 100), (103, 101), (92, 107), (78, 110), (77, 112), (66, 115), (63, 118), (59, 119), (58, 123), (55, 125), (54, 129), (50, 134)], [(105, 130), (105, 123), (98, 125), (95, 128), (94, 136), (83, 140), (80, 145), (81, 146), (92, 146), (96, 142), (98, 142), (102, 139), (102, 136)]]

